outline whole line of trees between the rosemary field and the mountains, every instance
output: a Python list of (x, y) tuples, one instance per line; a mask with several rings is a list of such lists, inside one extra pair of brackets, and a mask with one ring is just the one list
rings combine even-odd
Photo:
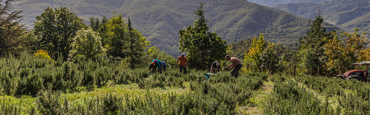
[[(34, 29), (27, 30), (20, 23), (21, 11), (9, 12), (11, 1), (7, 0), (0, 7), (3, 10), (0, 19), (0, 34), (3, 35), (0, 39), (1, 56), (28, 50), (54, 59), (62, 56), (70, 62), (105, 58), (132, 69), (144, 67), (152, 59), (163, 60), (169, 67), (175, 64), (174, 57), (165, 51), (161, 52), (156, 46), (148, 48), (150, 42), (132, 28), (129, 17), (127, 21), (115, 13), (110, 19), (91, 17), (90, 25), (85, 25), (66, 7), (55, 10), (48, 7), (36, 17)], [(208, 69), (213, 61), (225, 63), (225, 55), (240, 57), (243, 53), (243, 70), (248, 72), (286, 72), (289, 65), (296, 64), (298, 72), (312, 75), (319, 72), (330, 76), (349, 70), (352, 68), (350, 63), (365, 61), (370, 56), (370, 49), (364, 48), (362, 35), (365, 33), (359, 34), (358, 29), (353, 33), (326, 32), (320, 13), (312, 20), (307, 35), (299, 38), (297, 50), (268, 43), (262, 33), (258, 38), (247, 39), (250, 45), (245, 46), (248, 48), (226, 45), (225, 40), (209, 31), (203, 4), (194, 13), (198, 17), (194, 25), (179, 30), (179, 49), (188, 52), (189, 67), (196, 69)], [(43, 53), (45, 51), (48, 53)]]

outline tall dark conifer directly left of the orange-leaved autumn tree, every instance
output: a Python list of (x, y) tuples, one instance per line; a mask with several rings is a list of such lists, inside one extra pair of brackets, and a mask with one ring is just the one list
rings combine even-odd
[(297, 52), (297, 62), (300, 72), (316, 75), (322, 73), (323, 65), (327, 61), (324, 53), (326, 39), (331, 39), (331, 32), (325, 33), (326, 28), (322, 27), (323, 18), (320, 16), (320, 10), (312, 21), (311, 28), (307, 31), (307, 36), (299, 38), (300, 45)]

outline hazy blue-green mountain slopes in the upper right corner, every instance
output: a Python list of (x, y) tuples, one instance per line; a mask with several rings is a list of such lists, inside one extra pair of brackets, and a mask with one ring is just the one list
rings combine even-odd
[(322, 3), (278, 4), (275, 8), (287, 11), (304, 18), (313, 18), (320, 7), (325, 22), (336, 25), (345, 31), (370, 32), (369, 0), (331, 0)]

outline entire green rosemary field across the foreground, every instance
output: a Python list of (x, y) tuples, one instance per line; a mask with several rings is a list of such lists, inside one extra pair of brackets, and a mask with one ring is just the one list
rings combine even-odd
[(104, 59), (0, 59), (1, 115), (370, 114), (370, 85), (278, 73), (181, 74), (125, 69)]

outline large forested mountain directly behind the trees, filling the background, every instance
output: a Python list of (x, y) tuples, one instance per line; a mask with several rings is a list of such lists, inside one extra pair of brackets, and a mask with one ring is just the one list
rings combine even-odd
[[(262, 32), (268, 42), (294, 46), (310, 27), (309, 19), (246, 0), (16, 0), (14, 7), (24, 11), (24, 22), (29, 28), (47, 6), (67, 7), (87, 24), (90, 17), (110, 18), (114, 12), (129, 16), (132, 27), (147, 37), (152, 46), (177, 56), (181, 53), (179, 30), (192, 25), (199, 2), (205, 4), (210, 31), (229, 43), (258, 37)], [(327, 23), (324, 26), (329, 31), (339, 29)]]

